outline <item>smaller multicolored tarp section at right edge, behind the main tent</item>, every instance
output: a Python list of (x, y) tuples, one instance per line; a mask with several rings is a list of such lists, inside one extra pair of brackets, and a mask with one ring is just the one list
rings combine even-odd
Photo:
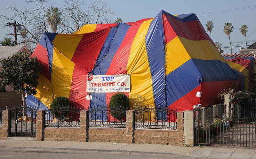
[(224, 57), (228, 65), (244, 75), (245, 91), (252, 90), (252, 79), (254, 75), (254, 57)]

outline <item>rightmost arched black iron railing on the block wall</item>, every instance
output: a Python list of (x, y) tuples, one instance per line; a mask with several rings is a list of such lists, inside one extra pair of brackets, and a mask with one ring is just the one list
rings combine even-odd
[(159, 107), (134, 110), (135, 128), (177, 129), (177, 111)]

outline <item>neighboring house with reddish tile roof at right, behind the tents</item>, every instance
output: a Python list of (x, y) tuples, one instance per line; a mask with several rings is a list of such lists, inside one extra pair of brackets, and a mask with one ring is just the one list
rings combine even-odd
[(225, 54), (223, 57), (254, 57), (256, 58), (256, 42), (247, 49), (240, 48), (240, 54)]

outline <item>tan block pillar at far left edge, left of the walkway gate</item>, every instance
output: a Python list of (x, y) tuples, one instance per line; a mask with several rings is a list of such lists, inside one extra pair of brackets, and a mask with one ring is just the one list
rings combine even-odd
[(2, 114), (3, 126), (0, 126), (0, 140), (7, 140), (10, 132), (10, 110), (3, 110)]

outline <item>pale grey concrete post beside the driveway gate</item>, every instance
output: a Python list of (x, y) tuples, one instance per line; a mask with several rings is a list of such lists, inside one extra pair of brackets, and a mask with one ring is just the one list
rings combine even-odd
[(194, 112), (184, 111), (184, 145), (194, 146)]

